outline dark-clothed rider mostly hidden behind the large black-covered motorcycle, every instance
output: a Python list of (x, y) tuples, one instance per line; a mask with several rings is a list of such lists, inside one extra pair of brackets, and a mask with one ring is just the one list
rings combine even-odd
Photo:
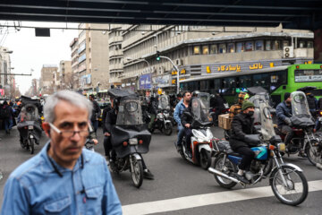
[[(111, 104), (112, 104), (112, 109), (108, 111), (106, 114), (106, 121), (105, 121), (106, 133), (104, 133), (104, 135), (108, 137), (106, 142), (104, 142), (106, 144), (106, 150), (108, 150), (108, 154), (110, 154), (109, 152), (113, 149), (113, 146), (111, 143), (111, 135), (113, 135), (113, 133), (111, 133), (111, 131), (112, 131), (112, 127), (116, 125), (119, 100), (111, 97)], [(116, 154), (112, 153), (112, 158), (108, 158), (110, 165), (114, 165), (114, 161), (116, 159), (115, 157), (116, 157)], [(142, 156), (141, 158), (142, 158), (142, 166), (143, 166), (143, 176), (148, 179), (154, 179), (153, 174), (150, 172), (150, 170), (148, 170)]]

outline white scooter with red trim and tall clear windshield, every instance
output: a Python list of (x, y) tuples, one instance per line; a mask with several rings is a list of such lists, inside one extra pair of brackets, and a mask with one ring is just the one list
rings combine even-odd
[[(182, 140), (182, 150), (179, 150), (182, 159), (186, 159), (191, 163), (199, 165), (201, 168), (208, 169), (211, 164), (210, 158), (210, 144), (213, 134), (210, 131), (212, 125), (212, 118), (208, 114), (208, 100), (200, 98), (192, 99), (192, 123), (191, 123), (191, 142), (186, 143), (186, 137)], [(198, 106), (194, 106), (198, 104)], [(188, 113), (186, 113), (188, 114)], [(186, 146), (191, 147), (192, 156), (190, 157)]]

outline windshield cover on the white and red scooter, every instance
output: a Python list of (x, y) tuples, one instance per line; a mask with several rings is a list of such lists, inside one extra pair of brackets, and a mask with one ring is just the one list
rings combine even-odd
[(209, 126), (212, 124), (208, 100), (193, 98), (191, 100), (191, 111), (193, 115), (192, 127)]

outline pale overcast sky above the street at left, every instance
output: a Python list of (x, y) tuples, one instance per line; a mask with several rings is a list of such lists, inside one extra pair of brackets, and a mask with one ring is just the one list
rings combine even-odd
[[(13, 22), (0, 22), (2, 25), (13, 25)], [(15, 22), (17, 25), (17, 22)], [(66, 27), (66, 23), (58, 22), (21, 22), (21, 26)], [(67, 23), (69, 28), (77, 28), (77, 23)], [(6, 31), (8, 34), (6, 35)], [(24, 94), (31, 86), (31, 80), (40, 77), (43, 64), (56, 64), (61, 60), (71, 60), (70, 43), (78, 37), (78, 30), (50, 30), (50, 37), (36, 37), (35, 29), (0, 27), (0, 46), (12, 50), (12, 73), (30, 73), (31, 76), (15, 76), (16, 85)]]

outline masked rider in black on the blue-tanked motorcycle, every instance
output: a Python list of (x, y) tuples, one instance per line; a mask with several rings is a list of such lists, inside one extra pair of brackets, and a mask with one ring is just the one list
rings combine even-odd
[(256, 133), (253, 124), (254, 119), (251, 117), (254, 115), (254, 104), (250, 101), (244, 101), (241, 111), (240, 114), (233, 117), (232, 136), (229, 139), (229, 143), (233, 151), (242, 155), (237, 178), (243, 183), (249, 183), (243, 175), (245, 171), (250, 170), (251, 160), (255, 157), (254, 151), (250, 150), (250, 147), (254, 145), (251, 144), (250, 138), (248, 138), (249, 134)]

